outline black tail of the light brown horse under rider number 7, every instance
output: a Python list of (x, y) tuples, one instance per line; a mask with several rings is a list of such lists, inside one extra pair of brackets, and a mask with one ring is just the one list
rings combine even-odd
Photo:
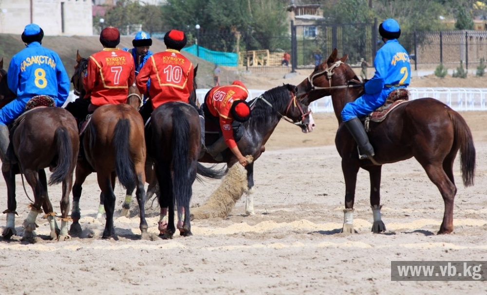
[(135, 188), (134, 165), (130, 156), (130, 121), (120, 119), (113, 134), (115, 148), (115, 172), (125, 189)]

